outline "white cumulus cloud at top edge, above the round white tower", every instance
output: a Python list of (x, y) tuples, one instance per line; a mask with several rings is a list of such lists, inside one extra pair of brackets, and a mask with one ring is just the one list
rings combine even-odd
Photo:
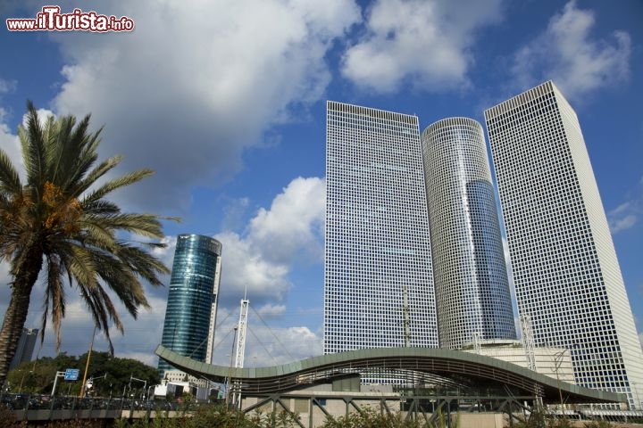
[(427, 91), (469, 86), (474, 34), (501, 19), (501, 2), (378, 0), (367, 32), (343, 59), (357, 86), (392, 93), (405, 83)]

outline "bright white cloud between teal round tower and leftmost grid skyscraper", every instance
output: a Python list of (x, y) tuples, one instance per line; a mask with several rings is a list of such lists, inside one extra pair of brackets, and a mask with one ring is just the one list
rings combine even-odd
[(221, 299), (236, 301), (247, 290), (260, 302), (283, 300), (293, 265), (321, 261), (325, 207), (323, 179), (297, 177), (269, 210), (258, 210), (243, 235), (215, 235), (223, 244)]

